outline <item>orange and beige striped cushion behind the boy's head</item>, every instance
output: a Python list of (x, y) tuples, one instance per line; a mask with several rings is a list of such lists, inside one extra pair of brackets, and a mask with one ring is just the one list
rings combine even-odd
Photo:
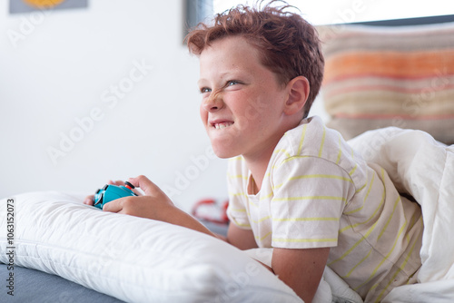
[(328, 126), (346, 139), (398, 126), (454, 143), (454, 23), (319, 32)]

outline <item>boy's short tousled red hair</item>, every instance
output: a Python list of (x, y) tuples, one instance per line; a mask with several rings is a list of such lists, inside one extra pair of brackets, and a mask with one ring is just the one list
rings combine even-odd
[(282, 85), (297, 76), (306, 77), (311, 91), (304, 105), (305, 118), (323, 78), (324, 59), (319, 35), (301, 15), (284, 12), (290, 5), (273, 7), (273, 2), (262, 9), (245, 5), (233, 7), (215, 15), (212, 25), (198, 24), (185, 40), (189, 51), (200, 55), (215, 40), (241, 35), (261, 51), (262, 64), (277, 74)]

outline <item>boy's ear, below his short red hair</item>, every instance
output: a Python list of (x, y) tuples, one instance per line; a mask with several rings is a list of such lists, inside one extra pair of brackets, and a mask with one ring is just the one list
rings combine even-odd
[(310, 85), (304, 76), (298, 76), (287, 83), (288, 97), (284, 105), (284, 112), (288, 115), (301, 112), (308, 100)]

